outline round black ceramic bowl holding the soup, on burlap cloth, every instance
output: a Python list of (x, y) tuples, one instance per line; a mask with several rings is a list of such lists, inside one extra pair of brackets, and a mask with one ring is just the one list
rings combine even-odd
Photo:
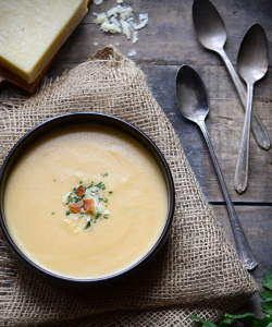
[[(17, 161), (20, 156), (26, 150), (26, 148), (32, 145), (37, 138), (45, 136), (45, 134), (52, 132), (57, 129), (69, 126), (69, 125), (78, 125), (78, 124), (99, 124), (104, 126), (113, 128), (118, 131), (122, 131), (123, 133), (129, 135), (131, 137), (138, 141), (156, 159), (158, 162), (162, 174), (165, 180), (166, 190), (168, 190), (168, 218), (165, 222), (165, 227), (154, 244), (154, 246), (146, 254), (139, 262), (135, 265), (126, 268), (125, 270), (111, 275), (109, 277), (98, 278), (98, 279), (74, 279), (74, 278), (66, 278), (59, 275), (54, 275), (46, 269), (39, 267), (38, 265), (34, 264), (29, 258), (27, 258), (16, 246), (15, 242), (12, 240), (7, 222), (4, 217), (4, 191), (7, 185), (7, 180), (9, 174)], [(10, 152), (9, 156), (7, 157), (1, 172), (0, 172), (0, 201), (1, 201), (1, 211), (0, 211), (0, 225), (3, 231), (3, 234), (10, 244), (11, 249), (14, 251), (16, 256), (23, 262), (28, 268), (35, 271), (38, 275), (46, 277), (49, 281), (57, 282), (59, 284), (65, 286), (102, 286), (104, 283), (112, 283), (118, 282), (119, 280), (124, 280), (131, 274), (136, 272), (137, 270), (141, 269), (147, 263), (149, 263), (156, 254), (161, 250), (162, 245), (164, 244), (171, 228), (171, 223), (173, 220), (174, 215), (174, 206), (175, 206), (175, 192), (174, 192), (174, 183), (173, 179), (169, 169), (169, 166), (163, 158), (162, 154), (158, 149), (158, 147), (152, 143), (152, 141), (147, 137), (140, 130), (136, 129), (134, 125), (118, 119), (112, 116), (96, 113), (96, 112), (79, 112), (79, 113), (69, 113), (64, 116), (59, 116), (53, 119), (50, 119), (38, 126), (34, 128), (30, 132), (24, 135), (17, 144), (13, 147)]]

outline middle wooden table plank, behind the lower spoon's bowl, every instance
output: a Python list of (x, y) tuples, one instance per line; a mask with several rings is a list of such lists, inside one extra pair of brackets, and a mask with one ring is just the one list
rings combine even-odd
[[(244, 124), (243, 107), (224, 68), (196, 65), (194, 68), (200, 73), (210, 94), (211, 110), (207, 118), (207, 126), (233, 201), (271, 203), (272, 150), (260, 149), (251, 135), (249, 187), (246, 193), (238, 195), (233, 185)], [(207, 198), (210, 202), (223, 201), (201, 132), (196, 124), (184, 119), (177, 109), (174, 82), (178, 68), (144, 65), (143, 69), (154, 98), (176, 130)], [(272, 74), (269, 73), (267, 78), (256, 86), (254, 98), (255, 108), (259, 109), (270, 136), (272, 136), (271, 87)]]

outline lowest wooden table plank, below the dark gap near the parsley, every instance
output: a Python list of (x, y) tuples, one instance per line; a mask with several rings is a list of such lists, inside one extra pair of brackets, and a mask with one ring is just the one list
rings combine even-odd
[[(218, 221), (223, 227), (226, 237), (234, 245), (234, 238), (231, 228), (231, 223), (227, 218), (225, 206), (212, 206), (217, 215)], [(239, 221), (243, 226), (248, 243), (254, 251), (255, 257), (258, 262), (258, 267), (251, 272), (255, 278), (259, 290), (262, 291), (261, 281), (263, 280), (264, 272), (270, 271), (272, 265), (272, 207), (252, 207), (252, 206), (235, 206), (238, 214)], [(252, 296), (247, 303), (245, 303), (236, 314), (252, 312), (257, 317), (262, 317), (261, 298), (259, 294)]]

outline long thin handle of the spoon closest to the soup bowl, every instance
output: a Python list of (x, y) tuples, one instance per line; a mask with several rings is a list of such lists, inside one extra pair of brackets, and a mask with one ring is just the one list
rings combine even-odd
[(242, 226), (239, 223), (238, 216), (233, 206), (233, 203), (232, 203), (231, 196), (228, 194), (222, 171), (220, 169), (220, 166), (219, 166), (219, 162), (217, 159), (217, 155), (212, 147), (211, 140), (209, 137), (205, 121), (198, 121), (197, 124), (199, 125), (199, 128), (201, 129), (201, 131), (203, 133), (205, 140), (207, 142), (208, 148), (210, 150), (210, 154), (211, 154), (211, 157), (212, 157), (212, 160), (213, 160), (213, 164), (214, 164), (218, 177), (219, 177), (220, 185), (221, 185), (221, 189), (222, 189), (223, 195), (225, 197), (225, 202), (226, 202), (226, 207), (227, 207), (230, 220), (232, 223), (232, 229), (233, 229), (238, 255), (240, 257), (240, 261), (243, 262), (243, 265), (246, 267), (246, 269), (252, 270), (255, 267), (257, 267), (258, 264), (257, 264), (257, 262), (254, 257), (254, 254), (248, 245), (247, 239), (246, 239), (244, 231), (242, 229)]

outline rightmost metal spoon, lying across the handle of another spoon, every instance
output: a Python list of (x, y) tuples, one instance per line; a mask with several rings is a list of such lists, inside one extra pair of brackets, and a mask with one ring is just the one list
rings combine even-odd
[(265, 75), (268, 66), (269, 50), (265, 32), (261, 25), (255, 24), (248, 28), (244, 36), (237, 59), (238, 72), (247, 83), (246, 118), (234, 179), (234, 186), (238, 193), (245, 192), (248, 185), (249, 137), (254, 84)]

